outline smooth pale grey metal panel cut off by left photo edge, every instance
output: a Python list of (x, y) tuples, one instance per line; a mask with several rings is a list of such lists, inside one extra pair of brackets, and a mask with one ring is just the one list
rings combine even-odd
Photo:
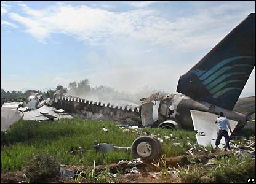
[(10, 125), (23, 117), (23, 113), (15, 109), (1, 107), (1, 131), (6, 131)]

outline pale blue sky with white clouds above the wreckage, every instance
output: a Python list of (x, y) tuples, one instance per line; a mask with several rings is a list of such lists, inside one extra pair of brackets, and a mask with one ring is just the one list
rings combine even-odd
[[(255, 1), (1, 1), (1, 88), (175, 93)], [(255, 67), (241, 96), (255, 95)]]

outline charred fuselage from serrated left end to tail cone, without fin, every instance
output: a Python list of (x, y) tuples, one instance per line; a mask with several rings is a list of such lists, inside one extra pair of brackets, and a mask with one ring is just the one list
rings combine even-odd
[(247, 121), (246, 115), (242, 113), (223, 109), (207, 102), (196, 101), (182, 94), (171, 94), (170, 96), (152, 94), (148, 98), (143, 98), (142, 105), (131, 109), (129, 107), (102, 104), (101, 102), (66, 96), (55, 97), (54, 106), (59, 109), (65, 109), (66, 112), (76, 113), (80, 115), (80, 118), (119, 121), (126, 125), (144, 126), (142, 125), (142, 106), (151, 102), (159, 104), (156, 109), (153, 109), (158, 116), (153, 125), (148, 125), (151, 127), (156, 127), (164, 121), (172, 120), (178, 125), (178, 128), (193, 130), (190, 110), (210, 113), (222, 111), (228, 119), (238, 121), (236, 129), (244, 126)]

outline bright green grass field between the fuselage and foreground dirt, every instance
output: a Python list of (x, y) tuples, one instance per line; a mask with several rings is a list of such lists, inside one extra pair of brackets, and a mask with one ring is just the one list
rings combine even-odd
[[(107, 128), (108, 132), (102, 131)], [(155, 134), (161, 137), (163, 153), (166, 156), (182, 155), (188, 148), (187, 142), (196, 142), (194, 132), (184, 130), (145, 128), (123, 132), (118, 123), (100, 122), (82, 119), (60, 119), (57, 121), (18, 121), (6, 133), (1, 132), (1, 171), (15, 171), (25, 167), (26, 161), (36, 155), (48, 153), (58, 158), (62, 164), (89, 165), (111, 164), (121, 159), (131, 159), (132, 154), (123, 151), (97, 153), (94, 142), (105, 142), (113, 145), (130, 147), (134, 139), (140, 135)], [(172, 140), (164, 136), (177, 137)], [(187, 139), (187, 137), (189, 137)], [(180, 142), (181, 147), (173, 142)], [(82, 147), (87, 150), (84, 155), (71, 155), (70, 150)]]

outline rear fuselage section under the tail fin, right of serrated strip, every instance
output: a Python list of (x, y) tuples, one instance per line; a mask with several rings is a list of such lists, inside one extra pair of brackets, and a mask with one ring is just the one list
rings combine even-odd
[(196, 101), (182, 94), (171, 94), (170, 96), (158, 96), (157, 94), (154, 94), (144, 101), (160, 101), (158, 121), (156, 123), (160, 124), (166, 120), (172, 120), (183, 129), (193, 130), (193, 121), (190, 110), (198, 110), (215, 114), (223, 112), (225, 117), (228, 119), (238, 121), (236, 129), (243, 127), (247, 120), (246, 115), (242, 113), (223, 109), (222, 107), (218, 107), (207, 102)]

